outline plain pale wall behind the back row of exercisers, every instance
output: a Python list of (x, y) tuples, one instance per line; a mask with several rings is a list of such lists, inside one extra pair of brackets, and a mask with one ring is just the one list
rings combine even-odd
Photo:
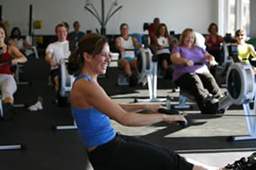
[[(91, 0), (101, 15), (101, 0)], [(105, 13), (113, 0), (105, 1)], [(144, 33), (143, 23), (159, 17), (168, 30), (181, 33), (185, 28), (193, 28), (207, 33), (210, 22), (217, 22), (216, 0), (118, 0), (122, 9), (107, 24), (107, 34), (118, 34), (119, 25), (127, 22), (130, 33)], [(84, 10), (85, 0), (0, 0), (3, 5), (4, 20), (10, 22), (10, 29), (18, 26), (22, 34), (29, 32), (29, 5), (34, 6), (34, 20), (43, 21), (38, 35), (53, 35), (58, 21), (66, 21), (73, 30), (73, 21), (80, 21), (81, 30), (100, 30), (93, 15)], [(146, 32), (145, 32), (146, 33)]]

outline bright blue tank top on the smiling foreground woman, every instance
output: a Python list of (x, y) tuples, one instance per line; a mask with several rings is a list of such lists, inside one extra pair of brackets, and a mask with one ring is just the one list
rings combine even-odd
[[(79, 79), (93, 81), (87, 75), (78, 76)], [(96, 147), (109, 142), (116, 136), (115, 130), (110, 125), (110, 117), (102, 114), (96, 108), (79, 109), (71, 106), (72, 115), (78, 127), (79, 135), (87, 148)]]

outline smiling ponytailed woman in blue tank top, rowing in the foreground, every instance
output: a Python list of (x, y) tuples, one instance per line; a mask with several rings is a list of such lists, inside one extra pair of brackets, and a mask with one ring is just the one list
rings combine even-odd
[[(110, 62), (107, 39), (87, 34), (69, 57), (68, 72), (76, 80), (71, 91), (72, 114), (84, 140), (94, 170), (203, 170), (169, 149), (136, 137), (116, 133), (110, 118), (127, 126), (186, 121), (183, 115), (163, 115), (159, 105), (118, 105), (108, 97), (97, 81)], [(140, 110), (152, 114), (138, 114)]]

